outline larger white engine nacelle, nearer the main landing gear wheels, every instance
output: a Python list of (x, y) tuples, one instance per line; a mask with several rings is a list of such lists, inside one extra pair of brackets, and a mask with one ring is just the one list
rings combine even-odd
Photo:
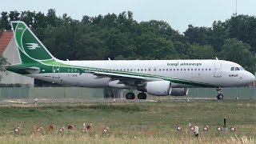
[(171, 83), (169, 81), (146, 82), (145, 90), (148, 94), (167, 96), (171, 94)]

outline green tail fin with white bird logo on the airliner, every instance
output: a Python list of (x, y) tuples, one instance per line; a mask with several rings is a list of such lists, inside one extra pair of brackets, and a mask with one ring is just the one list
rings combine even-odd
[(22, 63), (56, 59), (26, 26), (25, 22), (11, 22), (11, 26)]

